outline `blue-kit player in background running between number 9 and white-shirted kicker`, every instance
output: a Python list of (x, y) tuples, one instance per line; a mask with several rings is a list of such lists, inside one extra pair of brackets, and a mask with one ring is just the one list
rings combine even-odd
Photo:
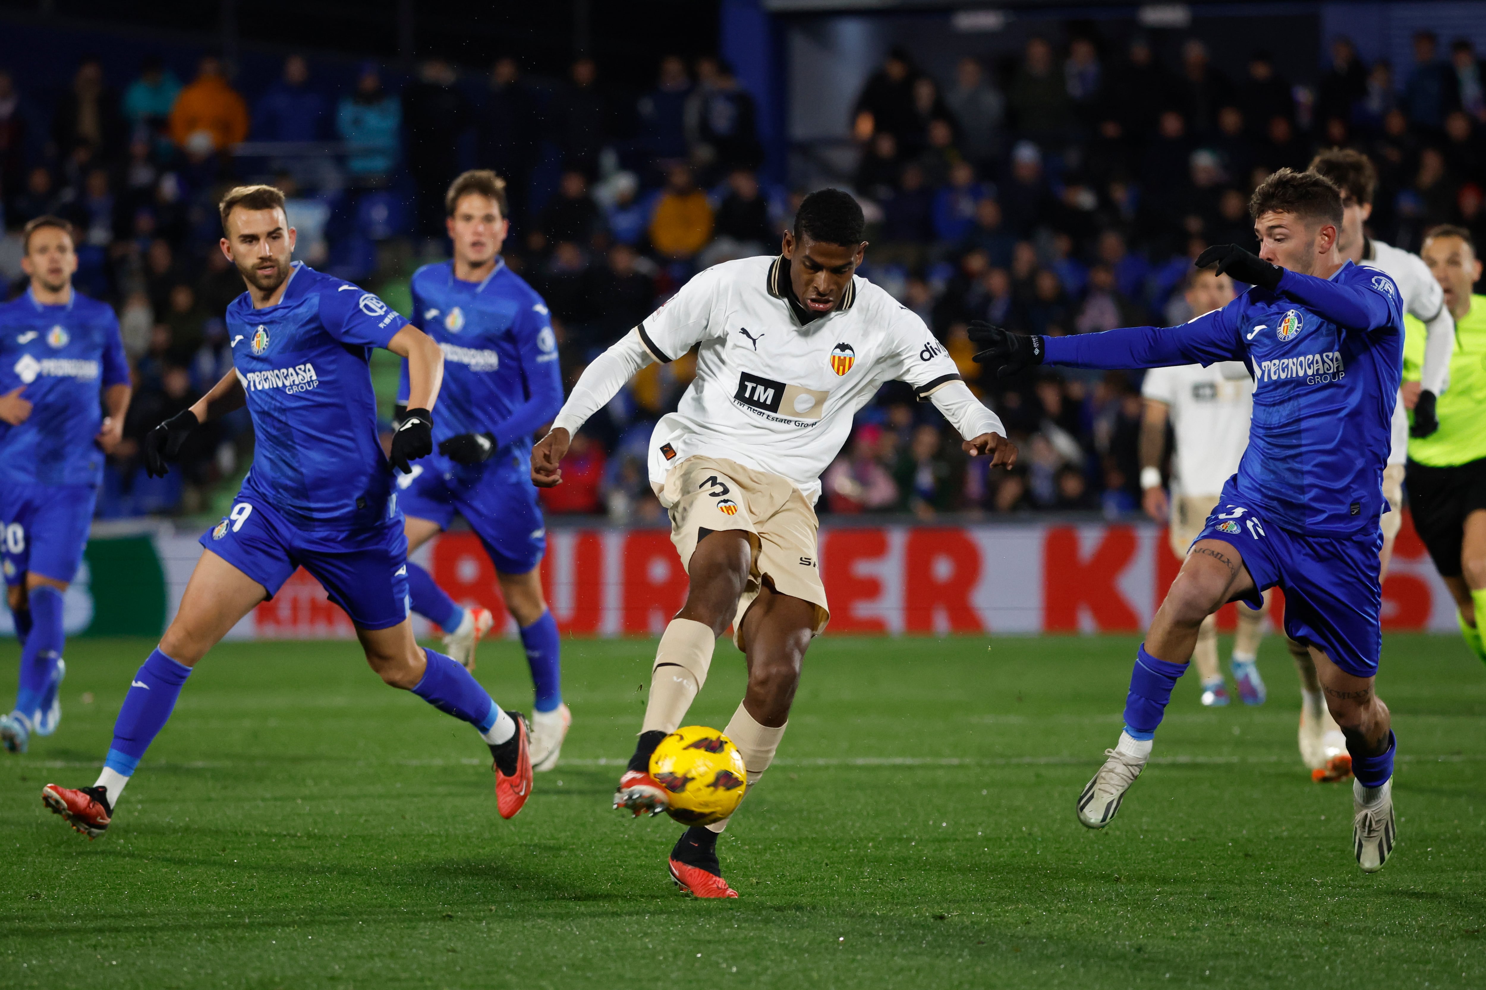
[[(413, 319), (444, 352), (444, 384), (434, 426), (438, 453), (397, 479), (407, 549), (447, 530), (455, 512), (480, 536), (536, 689), (532, 769), (550, 770), (572, 714), (562, 701), (562, 646), (538, 570), (547, 530), (531, 457), (532, 433), (562, 405), (557, 338), (542, 297), (501, 260), (510, 230), (505, 183), (490, 171), (465, 172), (449, 186), (444, 206), (455, 258), (424, 266), (412, 285)], [(407, 389), (404, 365), (398, 419)], [(413, 612), (437, 622), (449, 656), (473, 671), (490, 613), (455, 604), (413, 561), (407, 586)]]

